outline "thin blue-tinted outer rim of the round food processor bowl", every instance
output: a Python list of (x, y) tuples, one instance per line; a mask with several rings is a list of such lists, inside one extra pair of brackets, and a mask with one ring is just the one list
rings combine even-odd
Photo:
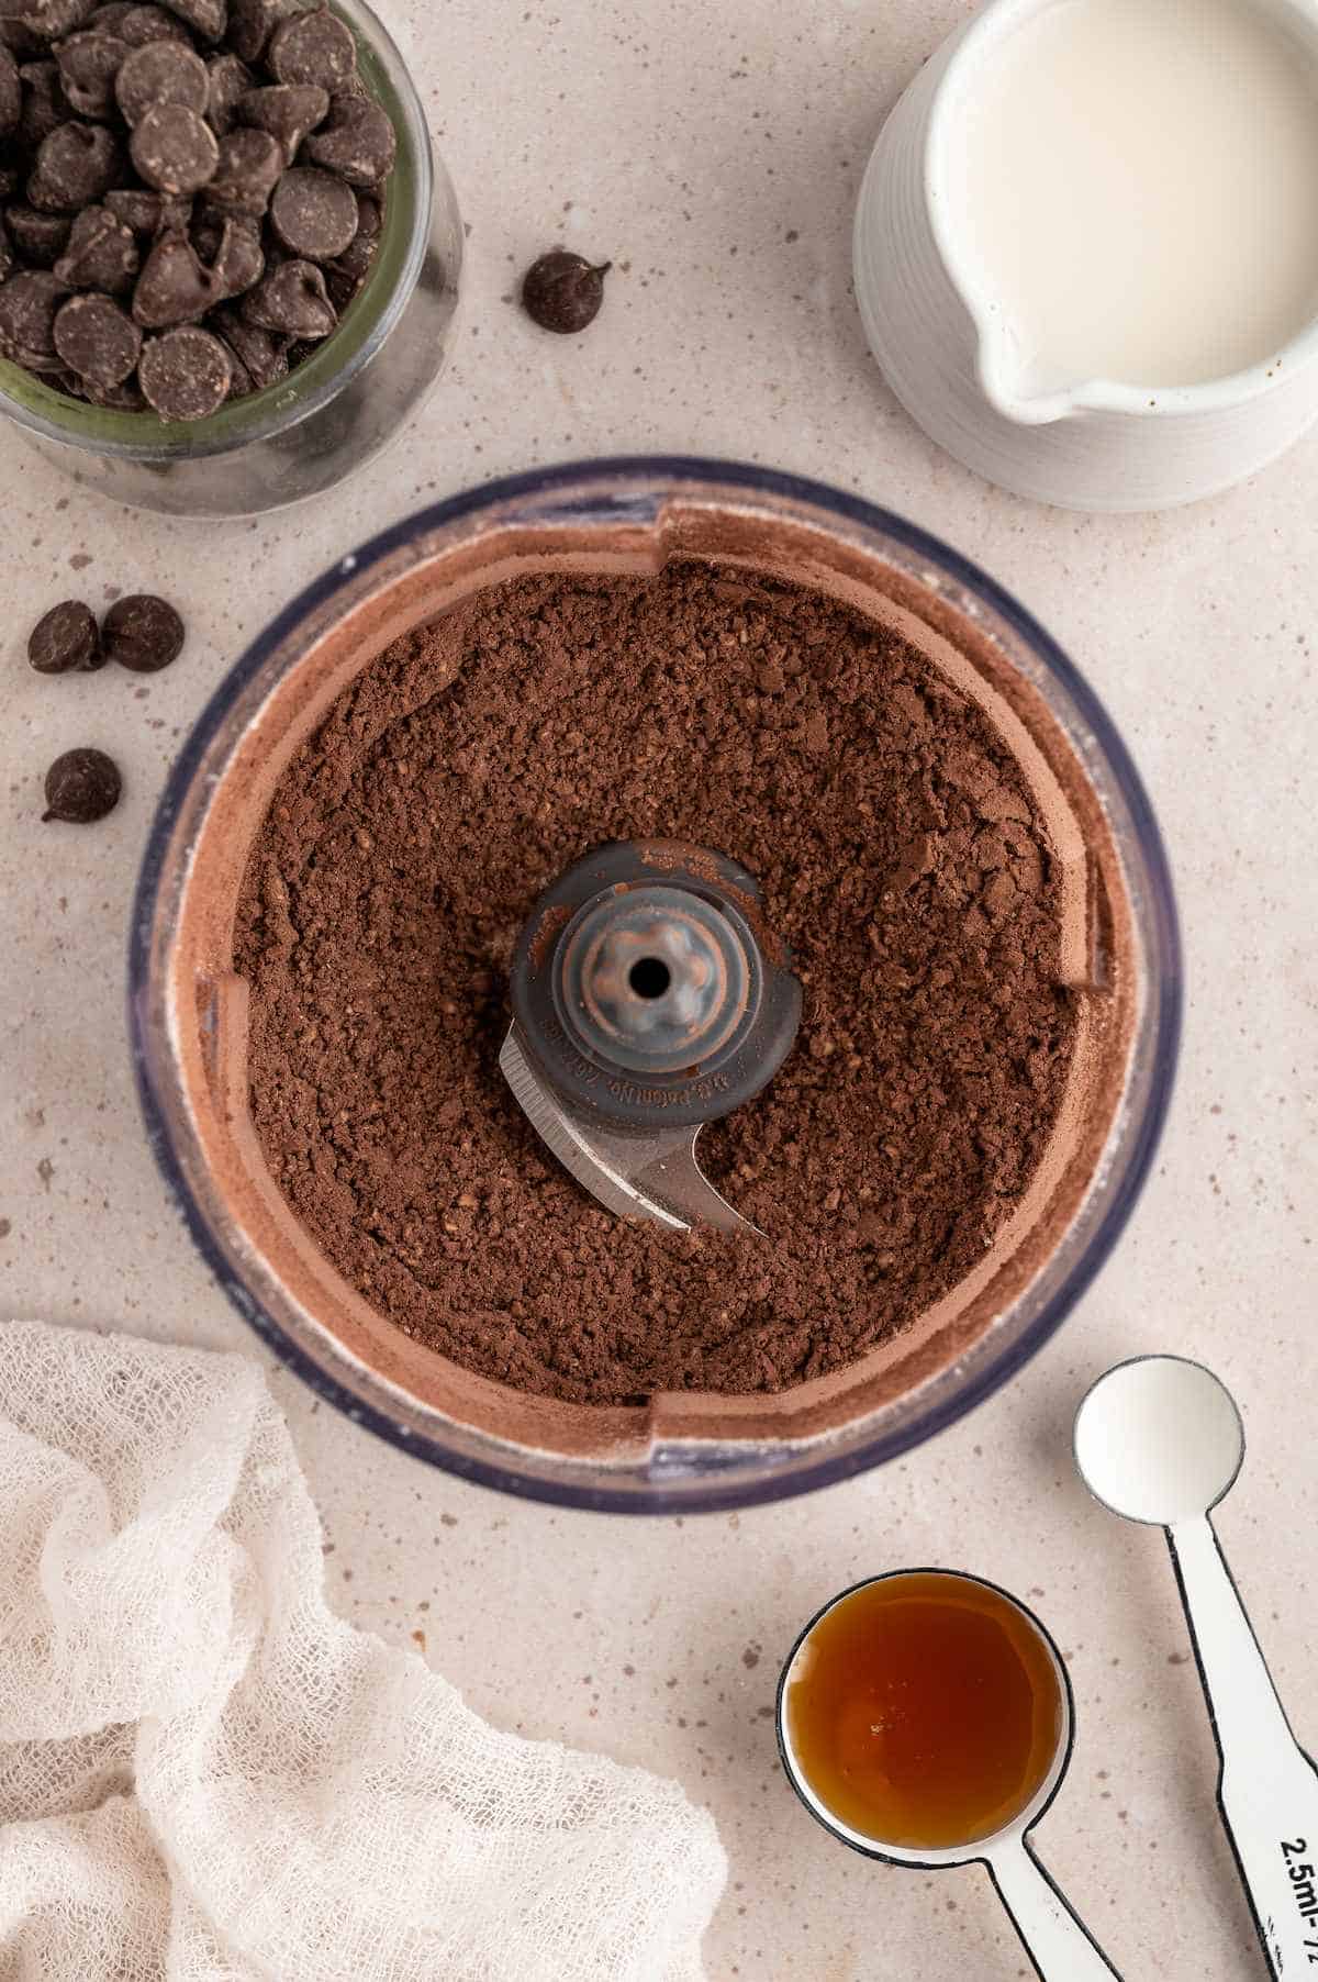
[[(601, 488), (601, 482), (610, 478), (622, 484), (620, 494), (612, 497)], [(1124, 1173), (1120, 1183), (1110, 1201), (1104, 1205), (1098, 1223), (1088, 1233), (1084, 1249), (1072, 1265), (1066, 1280), (1048, 1296), (1044, 1306), (1017, 1340), (1009, 1342), (999, 1356), (985, 1364), (985, 1368), (975, 1370), (953, 1395), (937, 1399), (928, 1411), (920, 1413), (912, 1421), (886, 1431), (880, 1429), (872, 1439), (844, 1453), (830, 1453), (823, 1447), (819, 1457), (805, 1459), (787, 1475), (737, 1481), (735, 1477), (719, 1475), (715, 1463), (708, 1475), (700, 1475), (696, 1479), (684, 1475), (682, 1481), (672, 1477), (666, 1481), (660, 1475), (646, 1486), (622, 1488), (610, 1486), (606, 1477), (601, 1479), (599, 1485), (583, 1485), (575, 1481), (555, 1483), (523, 1475), (513, 1465), (505, 1465), (495, 1459), (454, 1453), (438, 1439), (400, 1425), (388, 1415), (386, 1409), (381, 1409), (347, 1389), (337, 1381), (337, 1377), (321, 1370), (297, 1342), (285, 1336), (283, 1328), (270, 1314), (266, 1314), (260, 1302), (254, 1300), (246, 1288), (236, 1284), (232, 1261), (226, 1257), (224, 1247), (216, 1239), (188, 1187), (182, 1163), (174, 1150), (165, 1104), (155, 1090), (147, 1043), (145, 993), (149, 987), (157, 892), (178, 813), (206, 749), (210, 747), (216, 729), (222, 725), (232, 702), (262, 670), (279, 642), (285, 640), (309, 612), (333, 599), (347, 573), (351, 573), (353, 581), (361, 579), (363, 573), (369, 573), (392, 551), (406, 547), (418, 535), (428, 535), (442, 525), (478, 515), (480, 511), (499, 503), (535, 503), (543, 497), (555, 497), (555, 517), (575, 515), (583, 521), (593, 517), (599, 517), (601, 521), (626, 521), (628, 515), (636, 515), (638, 507), (638, 499), (634, 494), (628, 496), (626, 484), (636, 480), (644, 480), (650, 492), (664, 490), (670, 484), (674, 486), (674, 494), (680, 488), (694, 488), (698, 492), (702, 486), (710, 490), (747, 490), (753, 496), (769, 496), (823, 509), (826, 515), (838, 517), (846, 523), (878, 531), (914, 557), (926, 559), (939, 573), (949, 577), (955, 585), (963, 587), (971, 597), (977, 597), (995, 614), (999, 614), (999, 618), (1007, 622), (1019, 640), (1031, 648), (1046, 672), (1060, 684), (1076, 716), (1086, 725), (1098, 751), (1102, 753), (1114, 787), (1128, 809), (1130, 825), (1148, 876), (1148, 975), (1153, 983), (1157, 983), (1159, 995), (1155, 1033), (1150, 1043), (1148, 1104), (1140, 1120), (1132, 1124), (1132, 1144), (1128, 1152), (1124, 1152)], [(573, 501), (573, 496), (577, 496), (577, 501)], [(654, 513), (662, 507), (662, 496), (656, 497), (654, 494), (648, 494), (644, 507), (646, 513)], [(529, 474), (486, 482), (482, 488), (468, 490), (462, 496), (454, 496), (448, 501), (434, 503), (432, 507), (406, 517), (402, 523), (394, 523), (390, 529), (381, 531), (381, 535), (363, 545), (355, 557), (335, 563), (327, 573), (323, 573), (323, 577), (315, 579), (297, 599), (293, 599), (291, 605), (275, 614), (262, 634), (258, 634), (202, 710), (170, 771), (151, 826), (147, 852), (137, 880), (129, 936), (129, 1041), (147, 1136), (170, 1197), (178, 1205), (194, 1245), (244, 1320), (317, 1395), (325, 1397), (327, 1403), (333, 1403), (339, 1411), (351, 1417), (353, 1423), (365, 1425), (369, 1431), (375, 1431), (379, 1437), (398, 1447), (398, 1451), (412, 1453), (444, 1473), (478, 1481), (480, 1485), (499, 1488), (501, 1492), (511, 1492), (527, 1500), (541, 1500), (553, 1506), (593, 1508), (597, 1512), (610, 1514), (692, 1514), (793, 1498), (795, 1494), (811, 1492), (819, 1486), (830, 1486), (856, 1473), (866, 1473), (872, 1467), (886, 1465), (890, 1459), (898, 1459), (912, 1447), (924, 1445), (926, 1439), (935, 1437), (939, 1431), (945, 1431), (957, 1419), (965, 1417), (967, 1411), (971, 1411), (977, 1403), (983, 1403), (985, 1397), (993, 1395), (993, 1391), (1017, 1376), (1044, 1346), (1044, 1342), (1056, 1334), (1066, 1314), (1092, 1284), (1100, 1266), (1112, 1253), (1150, 1173), (1171, 1098), (1171, 1082), (1181, 1035), (1181, 941), (1171, 890), (1171, 870), (1161, 832), (1153, 817), (1153, 807), (1150, 805), (1140, 773), (1136, 771), (1122, 737), (1118, 735), (1094, 690), (1058, 648), (1058, 644), (1025, 610), (1025, 606), (1021, 606), (977, 565), (961, 557), (957, 551), (951, 551), (937, 537), (918, 529), (914, 523), (904, 521), (890, 509), (880, 509), (858, 496), (848, 496), (823, 482), (809, 482), (799, 476), (779, 474), (777, 470), (755, 468), (743, 462), (719, 462), (700, 456), (604, 456), (601, 460), (541, 468)]]

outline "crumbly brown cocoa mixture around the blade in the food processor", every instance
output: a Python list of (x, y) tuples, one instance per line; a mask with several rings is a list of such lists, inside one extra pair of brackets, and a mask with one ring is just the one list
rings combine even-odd
[[(803, 1029), (702, 1134), (769, 1237), (603, 1211), (497, 1070), (535, 896), (612, 838), (743, 860)], [(410, 1336), (585, 1403), (773, 1391), (914, 1322), (1019, 1203), (1074, 1043), (1046, 828), (894, 632), (706, 565), (533, 577), (398, 640), (295, 757), (238, 918), (270, 1169)]]

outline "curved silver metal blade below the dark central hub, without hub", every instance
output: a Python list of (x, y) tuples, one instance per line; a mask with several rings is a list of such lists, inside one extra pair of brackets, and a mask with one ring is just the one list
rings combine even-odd
[(527, 1058), (515, 1025), (503, 1041), (499, 1070), (547, 1150), (608, 1211), (624, 1219), (656, 1219), (670, 1231), (717, 1225), (721, 1231), (759, 1233), (714, 1189), (696, 1161), (700, 1128), (616, 1134), (569, 1114)]

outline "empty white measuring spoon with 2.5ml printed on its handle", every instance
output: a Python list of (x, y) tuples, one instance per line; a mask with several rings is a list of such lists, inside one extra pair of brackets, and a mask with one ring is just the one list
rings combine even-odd
[(1108, 1370), (1076, 1413), (1076, 1465), (1096, 1500), (1167, 1530), (1221, 1754), (1217, 1802), (1274, 1976), (1318, 1974), (1318, 1770), (1276, 1697), (1209, 1520), (1245, 1459), (1235, 1397), (1203, 1364), (1142, 1356)]

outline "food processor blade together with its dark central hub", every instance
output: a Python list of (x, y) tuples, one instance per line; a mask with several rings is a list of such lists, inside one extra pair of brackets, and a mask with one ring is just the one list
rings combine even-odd
[(755, 1233), (696, 1159), (706, 1122), (791, 1050), (801, 983), (743, 866), (674, 840), (599, 846), (535, 904), (499, 1068), (601, 1205), (672, 1231)]

